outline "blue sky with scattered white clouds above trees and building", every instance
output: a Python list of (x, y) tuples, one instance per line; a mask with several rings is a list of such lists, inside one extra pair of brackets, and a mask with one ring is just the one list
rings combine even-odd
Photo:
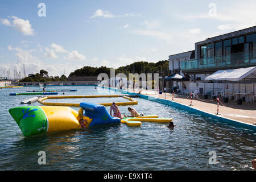
[[(43, 3), (43, 6), (42, 6)], [(45, 7), (45, 8), (44, 8)], [(0, 1), (0, 76), (168, 60), (256, 25), (256, 1)], [(14, 73), (13, 73), (14, 75)]]

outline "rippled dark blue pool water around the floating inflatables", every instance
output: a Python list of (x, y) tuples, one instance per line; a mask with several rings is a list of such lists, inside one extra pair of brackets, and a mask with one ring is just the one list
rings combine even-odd
[[(78, 90), (65, 94), (102, 94), (92, 86), (48, 87), (50, 89)], [(138, 101), (138, 105), (133, 106), (135, 109), (144, 114), (172, 117), (175, 129), (170, 130), (163, 123), (143, 122), (141, 127), (121, 123), (25, 138), (8, 110), (34, 96), (9, 96), (13, 92), (26, 92), (26, 88), (0, 90), (1, 170), (253, 170), (251, 160), (256, 158), (256, 133), (253, 131), (142, 98), (135, 98)], [(104, 94), (115, 93), (106, 91)], [(46, 102), (53, 101), (125, 100), (84, 98)], [(119, 109), (122, 114), (128, 114), (127, 106), (119, 106)], [(46, 152), (46, 165), (38, 164), (39, 151)], [(210, 151), (217, 154), (216, 165), (208, 163)]]

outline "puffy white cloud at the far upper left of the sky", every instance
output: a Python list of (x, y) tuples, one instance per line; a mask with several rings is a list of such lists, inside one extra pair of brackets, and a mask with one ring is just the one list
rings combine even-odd
[(24, 20), (16, 16), (11, 16), (10, 18), (13, 18), (13, 24), (8, 19), (1, 19), (1, 23), (5, 26), (14, 27), (19, 32), (22, 32), (23, 35), (34, 35), (34, 30), (31, 28), (29, 20)]

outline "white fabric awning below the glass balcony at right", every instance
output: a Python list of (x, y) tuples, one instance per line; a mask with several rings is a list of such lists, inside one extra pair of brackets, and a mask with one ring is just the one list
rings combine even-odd
[(219, 70), (209, 75), (205, 80), (239, 81), (256, 78), (256, 67)]

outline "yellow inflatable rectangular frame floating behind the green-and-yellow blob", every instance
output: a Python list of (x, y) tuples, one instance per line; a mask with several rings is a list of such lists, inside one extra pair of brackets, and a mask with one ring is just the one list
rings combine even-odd
[[(61, 102), (44, 102), (47, 99), (61, 99), (61, 98), (101, 98), (101, 97), (123, 97), (130, 102), (115, 102), (118, 106), (127, 106), (127, 105), (137, 105), (138, 101), (133, 98), (127, 96), (119, 96), (119, 95), (93, 95), (93, 96), (47, 96), (43, 98), (39, 98), (38, 102), (43, 105), (48, 106), (69, 106), (69, 107), (80, 107), (79, 103), (61, 103)], [(109, 103), (98, 103), (103, 106), (111, 106), (113, 102)]]

